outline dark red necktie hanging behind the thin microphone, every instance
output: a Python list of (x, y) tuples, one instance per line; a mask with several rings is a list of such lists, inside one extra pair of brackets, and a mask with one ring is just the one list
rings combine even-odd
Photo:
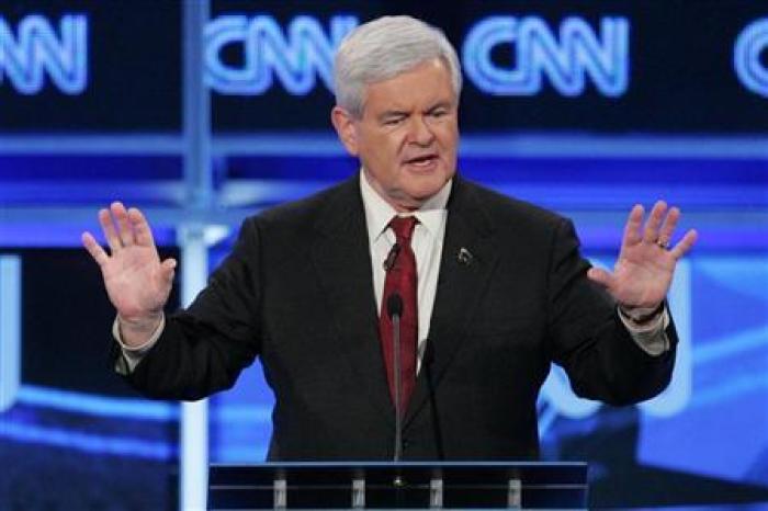
[(410, 237), (418, 220), (413, 217), (395, 217), (389, 227), (397, 238), (396, 247), (389, 253), (385, 263), (387, 270), (384, 281), (382, 310), (379, 317), (379, 334), (382, 340), (384, 362), (386, 363), (386, 379), (389, 384), (389, 396), (395, 402), (395, 381), (393, 374), (393, 326), (387, 314), (386, 303), (393, 293), (403, 298), (403, 316), (400, 317), (400, 404), (402, 412), (408, 408), (408, 400), (416, 386), (416, 344), (419, 331), (419, 316), (416, 302), (418, 277), (416, 274), (416, 257), (410, 248)]

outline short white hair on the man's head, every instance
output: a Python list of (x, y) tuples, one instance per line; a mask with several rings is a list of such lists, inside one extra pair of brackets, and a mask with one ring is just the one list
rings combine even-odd
[(365, 86), (388, 80), (434, 58), (445, 64), (459, 98), (461, 64), (439, 29), (411, 16), (383, 16), (364, 23), (345, 37), (336, 53), (336, 104), (360, 118)]

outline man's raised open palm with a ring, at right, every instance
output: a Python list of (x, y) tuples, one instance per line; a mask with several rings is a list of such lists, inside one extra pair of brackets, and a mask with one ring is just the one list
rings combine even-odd
[(667, 295), (675, 266), (693, 246), (697, 232), (689, 230), (669, 248), (680, 218), (676, 207), (657, 202), (643, 227), (643, 206), (635, 205), (624, 227), (621, 252), (613, 272), (589, 270), (589, 277), (605, 286), (625, 308), (656, 308)]

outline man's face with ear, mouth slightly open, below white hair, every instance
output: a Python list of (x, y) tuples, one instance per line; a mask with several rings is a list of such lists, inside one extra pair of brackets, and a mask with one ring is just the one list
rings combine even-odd
[(418, 208), (453, 177), (459, 99), (441, 59), (365, 88), (362, 118), (334, 109), (332, 121), (365, 177), (399, 212)]

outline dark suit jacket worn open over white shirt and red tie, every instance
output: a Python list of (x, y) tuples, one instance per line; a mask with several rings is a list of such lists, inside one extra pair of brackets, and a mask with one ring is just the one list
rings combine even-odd
[[(586, 279), (572, 224), (456, 177), (429, 333), (404, 419), (406, 459), (535, 458), (552, 361), (613, 405), (667, 385)], [(358, 177), (248, 218), (192, 306), (129, 382), (158, 398), (230, 387), (259, 355), (276, 397), (270, 459), (387, 459), (394, 409), (377, 334)], [(473, 254), (460, 263), (461, 248)], [(674, 327), (667, 334), (673, 347)]]

